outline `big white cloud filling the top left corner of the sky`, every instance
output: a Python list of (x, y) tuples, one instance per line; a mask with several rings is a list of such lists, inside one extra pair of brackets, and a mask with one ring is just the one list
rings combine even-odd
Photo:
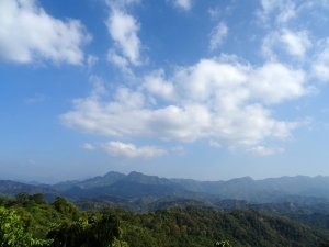
[(48, 15), (35, 0), (0, 1), (0, 58), (14, 63), (48, 59), (79, 65), (90, 41), (77, 20)]

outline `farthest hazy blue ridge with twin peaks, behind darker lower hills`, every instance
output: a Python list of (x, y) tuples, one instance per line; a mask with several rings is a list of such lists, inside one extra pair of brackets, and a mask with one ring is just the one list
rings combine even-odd
[(228, 181), (197, 181), (167, 179), (133, 171), (128, 175), (110, 171), (82, 181), (65, 181), (56, 184), (29, 184), (0, 180), (0, 194), (19, 192), (44, 193), (46, 198), (64, 195), (72, 200), (81, 198), (140, 198), (175, 197), (196, 200), (245, 200), (250, 203), (273, 203), (317, 198), (329, 200), (329, 177), (281, 177), (254, 180), (250, 177)]

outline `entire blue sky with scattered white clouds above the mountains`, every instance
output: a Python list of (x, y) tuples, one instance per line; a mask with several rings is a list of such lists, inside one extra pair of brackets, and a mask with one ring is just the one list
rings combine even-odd
[(0, 179), (329, 176), (328, 0), (0, 0)]

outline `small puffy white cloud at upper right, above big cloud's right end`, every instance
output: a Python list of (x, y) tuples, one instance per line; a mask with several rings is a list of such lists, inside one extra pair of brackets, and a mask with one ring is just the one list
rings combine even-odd
[(311, 41), (306, 31), (293, 32), (286, 29), (280, 32), (269, 33), (262, 44), (262, 53), (268, 59), (276, 59), (276, 54), (285, 52), (286, 54), (304, 58)]

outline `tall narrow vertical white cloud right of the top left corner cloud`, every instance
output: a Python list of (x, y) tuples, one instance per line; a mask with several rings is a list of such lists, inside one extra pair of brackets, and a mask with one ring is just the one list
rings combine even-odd
[(116, 46), (116, 50), (109, 53), (109, 59), (120, 67), (126, 66), (127, 61), (134, 66), (139, 65), (141, 61), (137, 20), (124, 9), (112, 8), (106, 25)]

